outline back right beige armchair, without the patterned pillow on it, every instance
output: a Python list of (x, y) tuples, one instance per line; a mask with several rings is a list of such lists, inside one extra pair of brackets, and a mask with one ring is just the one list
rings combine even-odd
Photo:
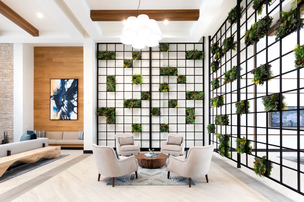
[[(183, 137), (181, 145), (168, 144), (168, 138), (171, 137)], [(183, 155), (185, 151), (185, 134), (182, 133), (168, 133), (167, 141), (161, 144), (161, 153), (165, 154), (179, 154)]]

